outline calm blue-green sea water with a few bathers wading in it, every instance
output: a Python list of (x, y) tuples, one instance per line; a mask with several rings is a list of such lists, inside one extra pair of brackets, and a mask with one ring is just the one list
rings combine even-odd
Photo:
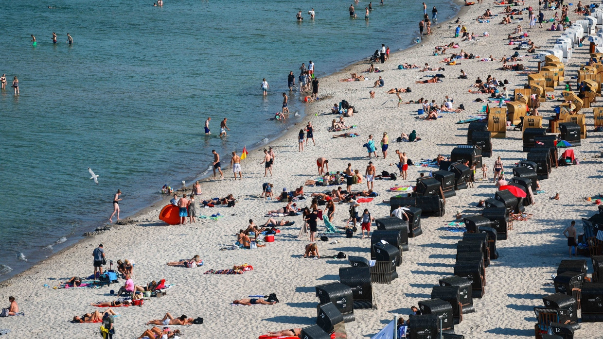
[[(421, 2), (373, 1), (365, 22), (367, 1), (355, 4), (354, 20), (344, 1), (165, 0), (159, 8), (153, 0), (0, 0), (8, 80), (0, 93), (0, 280), (102, 225), (118, 188), (125, 217), (157, 201), (164, 183), (203, 175), (212, 149), (228, 158), (277, 137), (286, 125), (267, 119), (280, 110), (289, 70), (297, 76), (312, 60), (320, 77), (381, 43), (409, 46)], [(428, 5), (440, 21), (458, 10), (449, 0)], [(20, 96), (10, 88), (15, 75)], [(303, 115), (297, 92), (290, 102)], [(224, 117), (232, 135), (218, 138)]]

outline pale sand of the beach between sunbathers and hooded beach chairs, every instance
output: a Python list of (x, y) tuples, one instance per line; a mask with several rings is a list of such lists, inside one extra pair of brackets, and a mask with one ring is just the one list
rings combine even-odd
[[(535, 1), (526, 1), (525, 7), (534, 6)], [(523, 6), (522, 6), (523, 7)], [(428, 9), (431, 8), (428, 4)], [(275, 195), (283, 187), (294, 190), (303, 185), (308, 179), (317, 178), (316, 159), (329, 159), (330, 171), (343, 171), (348, 163), (353, 169), (362, 174), (368, 164), (367, 152), (362, 145), (369, 134), (373, 134), (376, 145), (383, 134), (390, 136), (388, 157), (371, 159), (377, 173), (382, 170), (397, 172), (396, 149), (406, 152), (408, 157), (418, 163), (421, 159), (433, 159), (438, 154), (449, 155), (457, 144), (467, 141), (468, 124), (458, 125), (458, 120), (475, 116), (482, 110), (481, 98), (487, 101), (489, 95), (468, 93), (476, 77), (485, 79), (488, 75), (499, 81), (508, 80), (507, 88), (523, 87), (527, 82), (526, 75), (517, 72), (500, 70), (500, 59), (503, 55), (513, 54), (513, 47), (508, 46), (507, 35), (513, 33), (517, 24), (498, 25), (502, 14), (491, 19), (490, 23), (477, 23), (476, 17), (490, 8), (494, 14), (504, 10), (504, 6), (476, 4), (464, 7), (459, 14), (461, 22), (467, 25), (469, 32), (480, 37), (472, 42), (461, 42), (453, 38), (456, 24), (447, 22), (434, 29), (433, 34), (426, 37), (417, 46), (401, 52), (394, 52), (381, 67), (382, 73), (365, 74), (365, 81), (339, 82), (338, 79), (349, 77), (349, 73), (360, 73), (368, 68), (370, 63), (358, 63), (346, 67), (342, 72), (320, 79), (319, 97), (327, 97), (313, 104), (306, 110), (308, 121), (314, 125), (316, 145), (312, 141), (303, 152), (298, 152), (297, 133), (305, 123), (292, 126), (287, 134), (267, 146), (273, 146), (276, 152), (274, 160), (274, 176), (264, 178), (262, 149), (250, 150), (248, 157), (241, 161), (244, 178), (233, 181), (232, 170), (227, 166), (229, 154), (221, 154), (223, 180), (209, 178), (201, 182), (203, 193), (201, 199), (224, 197), (232, 193), (237, 202), (234, 208), (224, 206), (215, 208), (200, 208), (198, 212), (205, 216), (220, 213), (217, 220), (200, 219), (197, 223), (185, 226), (166, 226), (158, 219), (159, 211), (167, 204), (156, 204), (134, 217), (128, 218), (131, 223), (116, 225), (112, 231), (104, 232), (95, 237), (87, 238), (75, 246), (69, 247), (54, 255), (51, 259), (34, 266), (32, 269), (0, 284), (0, 306), (8, 306), (8, 296), (14, 296), (25, 316), (0, 318), (0, 328), (11, 329), (8, 338), (91, 338), (98, 337), (99, 324), (74, 324), (69, 320), (74, 316), (91, 313), (96, 308), (91, 302), (115, 300), (110, 290), (118, 290), (119, 284), (98, 289), (54, 289), (53, 287), (65, 282), (72, 276), (88, 276), (93, 272), (92, 251), (98, 244), (104, 245), (107, 259), (116, 263), (118, 259), (128, 258), (136, 263), (133, 280), (137, 285), (148, 284), (151, 280), (166, 279), (167, 284), (175, 284), (167, 290), (166, 296), (145, 300), (142, 307), (131, 306), (116, 308), (119, 313), (116, 318), (116, 338), (136, 338), (145, 329), (145, 323), (151, 319), (161, 319), (166, 312), (174, 316), (186, 314), (188, 317), (203, 317), (203, 325), (173, 326), (185, 334), (185, 338), (257, 338), (267, 331), (278, 331), (289, 328), (303, 328), (315, 323), (316, 305), (315, 286), (338, 281), (339, 267), (349, 266), (347, 259), (312, 260), (301, 258), (308, 238), (297, 239), (300, 226), (303, 225), (301, 216), (285, 217), (295, 221), (295, 225), (280, 228), (274, 243), (253, 250), (220, 250), (231, 246), (236, 241), (239, 229), (245, 229), (248, 219), (253, 219), (256, 225), (263, 225), (268, 210), (276, 210), (285, 204), (276, 201), (259, 199), (262, 184), (274, 184)], [(576, 19), (573, 13), (575, 5), (570, 7), (569, 17)], [(526, 13), (526, 12), (524, 12)], [(550, 19), (554, 11), (544, 11), (546, 19)], [(344, 13), (345, 14), (345, 13)], [(523, 15), (527, 17), (526, 14)], [(360, 20), (360, 19), (358, 19)], [(418, 19), (417, 19), (418, 21)], [(524, 30), (529, 32), (531, 39), (541, 49), (552, 48), (555, 37), (560, 32), (549, 32), (545, 28), (528, 30), (528, 21), (523, 20)], [(538, 25), (537, 25), (538, 26)], [(536, 27), (537, 27), (536, 26)], [(488, 32), (489, 36), (483, 37)], [(517, 35), (517, 34), (514, 34)], [(482, 58), (493, 55), (495, 61), (478, 61), (475, 59), (461, 60), (456, 66), (446, 66), (440, 63), (450, 55), (433, 55), (434, 46), (458, 42), (459, 49), (450, 51), (466, 51)], [(374, 41), (376, 48), (382, 42)], [(378, 44), (377, 44), (378, 43)], [(387, 42), (384, 42), (387, 45)], [(519, 51), (525, 54), (525, 50)], [(566, 63), (566, 79), (576, 75), (579, 65), (584, 64), (589, 57), (588, 44), (576, 48), (573, 58)], [(300, 61), (301, 62), (301, 61)], [(431, 67), (445, 67), (438, 72), (418, 72), (418, 69), (397, 69), (402, 63), (429, 63)], [(537, 69), (537, 59), (524, 57), (521, 62), (530, 70)], [(320, 64), (317, 64), (320, 67)], [(457, 79), (463, 69), (468, 79)], [(415, 81), (425, 80), (426, 75), (443, 73), (446, 77), (437, 84), (415, 84)], [(376, 88), (375, 98), (369, 98), (370, 87), (378, 76), (385, 80), (385, 86)], [(575, 82), (575, 81), (573, 81)], [(443, 113), (441, 119), (425, 121), (417, 119), (418, 104), (400, 105), (397, 107), (396, 95), (386, 94), (393, 88), (411, 87), (411, 93), (401, 93), (404, 101), (419, 98), (435, 99), (438, 104), (448, 95), (454, 99), (455, 107), (463, 104), (466, 108), (461, 113)], [(556, 87), (555, 97), (561, 95), (562, 87)], [(258, 93), (261, 95), (261, 93)], [(271, 100), (280, 100), (280, 93), (270, 93)], [(291, 99), (298, 99), (297, 95)], [(356, 125), (350, 132), (359, 133), (355, 138), (332, 138), (328, 132), (331, 120), (335, 114), (330, 113), (333, 103), (346, 99), (358, 109), (353, 117), (347, 117), (348, 125)], [(547, 101), (541, 103), (538, 109), (545, 117), (554, 116), (553, 107), (560, 102)], [(593, 106), (599, 106), (599, 103)], [(561, 260), (568, 259), (566, 238), (563, 230), (571, 220), (578, 223), (578, 234), (582, 233), (582, 217), (590, 217), (596, 212), (596, 206), (584, 200), (584, 197), (601, 194), (603, 177), (600, 158), (593, 158), (601, 149), (602, 135), (593, 130), (593, 114), (590, 108), (583, 108), (580, 113), (586, 113), (589, 136), (582, 140), (582, 146), (576, 147), (578, 166), (566, 166), (554, 169), (549, 179), (541, 181), (541, 189), (546, 193), (535, 197), (535, 205), (526, 208), (533, 214), (531, 219), (514, 223), (508, 240), (498, 241), (499, 259), (492, 261), (487, 268), (487, 286), (484, 297), (474, 299), (476, 312), (467, 314), (463, 322), (455, 326), (457, 334), (466, 338), (522, 338), (534, 335), (536, 322), (533, 308), (542, 306), (542, 297), (555, 293), (553, 287), (543, 284), (551, 281), (551, 274), (557, 272)], [(548, 126), (548, 122), (543, 123)], [(409, 251), (403, 253), (403, 264), (398, 267), (399, 278), (392, 284), (373, 284), (378, 309), (355, 310), (355, 322), (346, 323), (350, 339), (370, 338), (390, 322), (395, 315), (408, 319), (410, 306), (420, 300), (430, 299), (431, 287), (438, 284), (438, 279), (452, 276), (455, 263), (456, 242), (461, 240), (462, 233), (449, 232), (444, 229), (447, 223), (455, 219), (456, 211), (463, 216), (479, 214), (481, 208), (477, 202), (494, 196), (497, 190), (491, 182), (491, 169), (496, 157), (501, 157), (509, 179), (510, 169), (519, 160), (525, 159), (522, 152), (522, 132), (508, 129), (506, 138), (493, 138), (493, 157), (484, 158), (488, 166), (488, 181), (476, 180), (475, 188), (459, 190), (455, 197), (446, 199), (446, 215), (444, 217), (429, 217), (421, 220), (423, 234), (409, 239)], [(409, 134), (417, 131), (420, 142), (395, 143), (402, 132)], [(209, 153), (210, 149), (203, 149)], [(236, 150), (240, 153), (240, 149)], [(508, 171), (506, 169), (509, 169)], [(372, 202), (362, 203), (361, 210), (368, 208), (372, 216), (386, 217), (390, 206), (382, 204), (381, 199), (389, 199), (396, 195), (389, 188), (397, 185), (414, 185), (419, 173), (428, 173), (431, 167), (411, 166), (408, 179), (404, 181), (376, 180), (374, 190), (380, 196)], [(219, 175), (218, 175), (219, 177)], [(476, 178), (481, 177), (481, 172)], [(160, 184), (159, 184), (160, 186)], [(345, 184), (343, 185), (345, 188)], [(305, 187), (306, 196), (314, 192), (326, 192), (336, 187)], [(354, 191), (365, 190), (366, 185), (353, 186)], [(189, 193), (190, 189), (186, 191)], [(560, 200), (550, 200), (555, 193), (560, 194)], [(178, 192), (182, 194), (182, 192)], [(197, 205), (200, 199), (197, 197)], [(298, 207), (310, 205), (310, 200), (297, 202)], [(107, 211), (110, 213), (110, 211)], [(344, 219), (349, 216), (347, 204), (335, 205), (335, 226), (344, 226)], [(318, 223), (318, 234), (325, 228)], [(376, 226), (373, 224), (373, 228)], [(329, 241), (318, 241), (320, 255), (335, 255), (344, 252), (347, 255), (370, 257), (370, 240), (361, 239), (359, 233), (353, 238), (343, 234), (331, 236)], [(331, 240), (338, 243), (331, 244)], [(204, 260), (203, 267), (185, 269), (183, 267), (166, 266), (168, 261), (176, 261), (200, 255)], [(590, 266), (590, 259), (588, 260)], [(207, 270), (230, 269), (234, 265), (250, 264), (253, 271), (242, 275), (204, 275)], [(589, 275), (590, 275), (589, 270)], [(48, 285), (48, 287), (45, 287)], [(241, 299), (254, 294), (276, 293), (280, 302), (276, 305), (241, 306), (230, 305), (235, 299)], [(601, 334), (598, 323), (582, 323), (582, 329), (576, 335), (582, 338), (596, 338)]]

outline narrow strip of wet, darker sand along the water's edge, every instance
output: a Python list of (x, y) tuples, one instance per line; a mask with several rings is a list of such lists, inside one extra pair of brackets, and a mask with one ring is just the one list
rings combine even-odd
[[(453, 6), (458, 7), (458, 11), (456, 12), (455, 15), (453, 15), (452, 17), (450, 17), (450, 19), (444, 20), (443, 22), (438, 22), (436, 25), (434, 25), (433, 26), (433, 30), (432, 30), (433, 33), (435, 33), (436, 30), (441, 29), (441, 27), (443, 25), (449, 24), (453, 20), (456, 20), (454, 17), (463, 16), (463, 14), (466, 13), (466, 11), (468, 10), (468, 8), (466, 8), (467, 6), (463, 5), (464, 2), (462, 2), (460, 0), (453, 0), (452, 2), (450, 2), (450, 4), (453, 5)], [(415, 33), (418, 33), (418, 31), (415, 32)], [(418, 48), (421, 45), (423, 45), (423, 43), (429, 42), (429, 40), (430, 40), (429, 39), (430, 36), (424, 36), (424, 37), (421, 37), (421, 38), (422, 38), (421, 42), (419, 42), (419, 43), (412, 43), (412, 40), (411, 40), (411, 42), (409, 42), (410, 45), (408, 47), (399, 49), (398, 51), (395, 51), (395, 52), (392, 52), (390, 54), (390, 58), (393, 57), (396, 54), (401, 54), (401, 53), (404, 53), (404, 52), (411, 51), (414, 48)], [(344, 73), (348, 73), (348, 70), (353, 69), (353, 67), (358, 67), (358, 66), (361, 66), (361, 65), (370, 64), (370, 61), (366, 61), (367, 58), (368, 58), (368, 56), (367, 57), (363, 57), (362, 59), (353, 61), (350, 64), (346, 64), (345, 66), (341, 67), (340, 70), (333, 70), (333, 72), (330, 72), (330, 73), (327, 73), (327, 75), (321, 76), (320, 79), (323, 79), (323, 78), (332, 78), (332, 77), (336, 78), (336, 76), (339, 76), (339, 75), (344, 74)], [(294, 93), (296, 99), (301, 96), (301, 93), (299, 93), (299, 92), (293, 92), (293, 93)], [(291, 92), (289, 92), (289, 97), (291, 97), (291, 96), (292, 96)], [(327, 100), (327, 99), (324, 99), (324, 100)], [(293, 135), (293, 136), (297, 135), (297, 132), (294, 131), (294, 127), (297, 126), (297, 125), (299, 125), (300, 123), (303, 124), (303, 120), (312, 119), (312, 116), (314, 116), (313, 114), (315, 114), (315, 113), (318, 112), (318, 109), (315, 108), (315, 107), (317, 107), (317, 105), (320, 104), (321, 102), (322, 101), (320, 101), (320, 102), (310, 102), (308, 104), (305, 104), (303, 101), (297, 101), (297, 104), (300, 106), (300, 111), (301, 111), (300, 112), (300, 122), (293, 123), (292, 125), (286, 126), (286, 128), (283, 131), (277, 133), (277, 135), (273, 139), (268, 140), (268, 142), (265, 143), (264, 146), (258, 146), (256, 149), (253, 149), (251, 152), (253, 152), (253, 151), (261, 151), (265, 147), (269, 147), (270, 143), (279, 143), (284, 138), (291, 137), (291, 135)], [(290, 134), (290, 135), (288, 135), (288, 134)], [(259, 140), (259, 141), (256, 142), (256, 144), (259, 144), (261, 142), (262, 142), (262, 140)], [(251, 152), (249, 152), (249, 153), (251, 154)], [(223, 172), (224, 172), (224, 170), (223, 170)], [(203, 173), (205, 173), (205, 174), (203, 174)], [(201, 173), (200, 176), (197, 176), (197, 178), (192, 179), (190, 181), (191, 184), (187, 184), (186, 185), (186, 190), (185, 191), (190, 191), (192, 189), (192, 185), (194, 184), (194, 181), (198, 180), (200, 183), (212, 181), (212, 179), (210, 178), (211, 175), (212, 175), (212, 167), (209, 166), (209, 167), (207, 167), (206, 170), (204, 170)], [(180, 180), (186, 179), (186, 178), (191, 178), (191, 176), (186, 176), (185, 178), (181, 178)], [(226, 179), (226, 176), (224, 178)], [(174, 192), (182, 192), (182, 191), (183, 191), (182, 188), (174, 189)], [(157, 192), (155, 191), (155, 192), (152, 192), (152, 193), (157, 193)], [(140, 216), (142, 216), (144, 214), (147, 214), (147, 213), (150, 213), (151, 211), (156, 210), (157, 208), (155, 207), (155, 205), (157, 205), (157, 204), (167, 205), (169, 203), (170, 199), (171, 199), (171, 196), (169, 196), (169, 194), (161, 194), (161, 196), (158, 199), (156, 199), (155, 202), (151, 202), (150, 205), (145, 205), (145, 207), (137, 208), (135, 211), (133, 211), (131, 214), (127, 214), (127, 216), (123, 217), (121, 220), (133, 220), (133, 219), (136, 219), (137, 217), (140, 217)], [(168, 202), (168, 203), (166, 203), (166, 202)], [(123, 225), (123, 224), (118, 224), (116, 222), (115, 223), (107, 223), (106, 221), (98, 220), (98, 222), (96, 222), (93, 226), (90, 226), (89, 231), (85, 231), (84, 230), (84, 233), (86, 233), (86, 232), (95, 232), (96, 229), (103, 228), (104, 226), (112, 226), (113, 228), (115, 228), (115, 225), (118, 225), (118, 226), (127, 226), (127, 225), (130, 225), (130, 224), (131, 223), (127, 223), (127, 224)], [(111, 232), (111, 231), (104, 231), (104, 232)], [(62, 237), (68, 237), (68, 235), (62, 235)], [(29, 270), (36, 269), (36, 266), (44, 264), (45, 261), (52, 260), (52, 258), (54, 258), (59, 253), (62, 253), (63, 251), (69, 249), (70, 247), (77, 246), (78, 244), (80, 244), (83, 241), (90, 240), (90, 238), (93, 238), (93, 237), (95, 237), (95, 235), (92, 235), (92, 236), (84, 236), (83, 234), (76, 235), (74, 238), (71, 239), (72, 241), (75, 240), (75, 243), (63, 246), (62, 248), (60, 248), (56, 252), (53, 252), (48, 257), (43, 258), (42, 260), (37, 261), (35, 264), (33, 264), (28, 269), (25, 269), (22, 272), (16, 273), (15, 275), (10, 275), (10, 272), (5, 273), (5, 274), (8, 274), (9, 276), (7, 276), (7, 278), (4, 278), (4, 279), (0, 275), (0, 286), (2, 286), (1, 284), (3, 282), (7, 282), (8, 280), (10, 280), (10, 279), (12, 279), (14, 277), (22, 275), (23, 273), (27, 273)], [(70, 239), (67, 238), (67, 241), (65, 241), (65, 243), (69, 242), (69, 240)], [(13, 270), (14, 269), (11, 267), (11, 272)]]

